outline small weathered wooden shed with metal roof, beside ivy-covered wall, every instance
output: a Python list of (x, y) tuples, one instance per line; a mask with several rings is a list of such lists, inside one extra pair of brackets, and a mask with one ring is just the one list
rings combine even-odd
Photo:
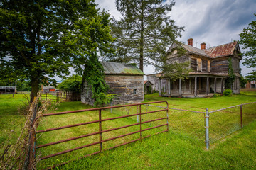
[[(112, 104), (140, 103), (144, 101), (144, 73), (132, 64), (102, 62), (105, 81), (110, 89), (107, 94), (114, 94)], [(93, 105), (92, 91), (87, 82), (81, 91), (82, 103)]]

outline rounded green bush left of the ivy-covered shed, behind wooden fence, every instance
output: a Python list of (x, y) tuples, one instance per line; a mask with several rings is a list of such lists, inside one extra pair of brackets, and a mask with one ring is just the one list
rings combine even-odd
[(72, 91), (75, 93), (80, 93), (80, 85), (82, 83), (82, 77), (79, 75), (73, 75), (65, 79), (63, 82), (58, 84), (58, 89), (63, 89), (65, 91)]

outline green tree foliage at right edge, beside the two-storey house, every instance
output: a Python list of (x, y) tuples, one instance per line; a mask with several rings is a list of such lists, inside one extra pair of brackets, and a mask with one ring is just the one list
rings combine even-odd
[[(256, 16), (256, 13), (254, 14)], [(242, 30), (240, 35), (240, 44), (242, 45), (242, 49), (245, 49), (242, 52), (242, 55), (247, 67), (254, 68), (256, 67), (256, 21), (252, 21), (249, 23), (247, 28)]]

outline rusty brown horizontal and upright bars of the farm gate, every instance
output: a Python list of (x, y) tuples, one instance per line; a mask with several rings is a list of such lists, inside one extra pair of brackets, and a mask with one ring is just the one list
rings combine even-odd
[[(142, 104), (151, 104), (151, 103), (166, 103), (166, 108), (164, 109), (161, 109), (161, 110), (158, 110), (158, 111), (146, 111), (144, 113), (142, 113)], [(102, 109), (109, 109), (109, 108), (121, 108), (121, 107), (126, 107), (126, 106), (139, 106), (139, 113), (137, 114), (132, 114), (132, 115), (123, 115), (123, 116), (119, 116), (119, 117), (115, 117), (115, 118), (106, 118), (106, 119), (102, 119)], [(165, 126), (167, 125), (167, 130), (164, 130), (164, 131), (161, 131), (161, 132), (167, 132), (169, 130), (169, 127), (168, 127), (168, 111), (169, 111), (169, 107), (168, 107), (168, 103), (166, 101), (158, 101), (158, 102), (148, 102), (148, 103), (139, 103), (139, 104), (131, 104), (131, 105), (123, 105), (123, 106), (110, 106), (110, 107), (105, 107), (105, 108), (90, 108), (90, 109), (85, 109), (85, 110), (79, 110), (79, 111), (68, 111), (68, 112), (59, 112), (59, 113), (50, 113), (50, 114), (45, 114), (43, 116), (50, 116), (50, 115), (63, 115), (63, 114), (67, 114), (67, 113), (78, 113), (78, 112), (85, 112), (85, 111), (98, 111), (99, 112), (99, 120), (94, 120), (94, 121), (90, 121), (90, 122), (85, 122), (85, 123), (78, 123), (78, 124), (75, 124), (75, 125), (66, 125), (66, 126), (62, 126), (62, 127), (58, 127), (58, 128), (50, 128), (50, 129), (46, 129), (46, 130), (38, 130), (36, 133), (41, 133), (41, 132), (49, 132), (49, 131), (52, 131), (52, 130), (60, 130), (60, 129), (64, 129), (64, 128), (72, 128), (72, 127), (77, 127), (77, 126), (80, 126), (80, 125), (88, 125), (88, 124), (91, 124), (91, 123), (99, 123), (99, 131), (98, 132), (92, 132), (90, 134), (86, 134), (86, 135), (81, 135), (81, 136), (78, 136), (78, 137), (71, 137), (69, 139), (65, 139), (65, 140), (60, 140), (60, 141), (57, 141), (57, 142), (50, 142), (48, 144), (44, 144), (44, 145), (39, 145), (36, 147), (36, 149), (39, 149), (41, 147), (47, 147), (47, 146), (50, 146), (50, 145), (56, 145), (56, 144), (59, 144), (59, 143), (62, 143), (62, 142), (68, 142), (70, 140), (77, 140), (77, 139), (80, 139), (82, 137), (89, 137), (89, 136), (92, 136), (92, 135), (97, 135), (99, 134), (100, 135), (100, 139), (99, 141), (97, 142), (92, 142), (90, 144), (87, 144), (87, 145), (83, 145), (83, 146), (80, 146), (80, 147), (75, 147), (73, 149), (68, 149), (68, 150), (65, 150), (63, 152), (58, 152), (58, 153), (55, 153), (55, 154), (50, 154), (50, 155), (47, 155), (45, 157), (41, 157), (40, 159), (43, 160), (43, 159), (48, 159), (50, 157), (56, 157), (60, 154), (65, 154), (65, 153), (68, 153), (68, 152), (73, 152), (75, 150), (78, 150), (78, 149), (82, 149), (82, 148), (85, 148), (85, 147), (90, 147), (92, 145), (97, 145), (99, 144), (100, 145), (100, 149), (98, 152), (95, 152), (95, 153), (92, 153), (92, 154), (97, 154), (97, 153), (100, 153), (102, 152), (102, 150), (106, 150), (106, 149), (102, 149), (102, 143), (103, 142), (107, 142), (107, 141), (110, 141), (110, 140), (115, 140), (117, 138), (120, 138), (120, 137), (125, 137), (125, 136), (128, 136), (128, 135), (133, 135), (133, 134), (136, 134), (136, 133), (140, 133), (140, 137), (139, 139), (137, 140), (142, 140), (146, 137), (149, 137), (149, 136), (146, 136), (146, 137), (142, 137), (142, 132), (146, 131), (146, 130), (151, 130), (151, 129), (154, 129), (154, 128), (159, 128), (159, 127), (162, 127), (162, 126)], [(149, 113), (156, 113), (156, 112), (161, 112), (161, 111), (166, 111), (167, 112), (167, 115), (166, 117), (164, 118), (157, 118), (157, 119), (154, 119), (154, 120), (147, 120), (147, 121), (144, 121), (142, 122), (142, 115), (144, 114), (149, 114)], [(118, 128), (112, 128), (112, 129), (107, 129), (107, 130), (102, 130), (102, 122), (103, 121), (108, 121), (108, 120), (115, 120), (115, 119), (119, 119), (119, 118), (128, 118), (128, 117), (132, 117), (132, 116), (139, 116), (139, 123), (134, 123), (134, 124), (131, 124), (131, 125), (125, 125), (125, 126), (122, 126), (122, 127), (118, 127)], [(38, 119), (38, 118), (36, 118)], [(166, 123), (165, 124), (162, 124), (162, 125), (156, 125), (154, 127), (151, 127), (151, 128), (146, 128), (146, 129), (143, 129), (142, 130), (142, 124), (144, 123), (150, 123), (150, 122), (154, 122), (154, 121), (157, 121), (157, 120), (164, 120), (166, 119)], [(124, 134), (124, 135), (119, 135), (119, 136), (116, 136), (116, 137), (111, 137), (109, 139), (106, 139), (106, 140), (102, 140), (102, 133), (104, 132), (110, 132), (112, 130), (119, 130), (119, 129), (122, 129), (122, 128), (128, 128), (128, 127), (131, 127), (131, 126), (134, 126), (134, 125), (140, 125), (139, 127), (139, 130), (135, 131), (135, 132), (129, 132), (127, 134)], [(155, 133), (154, 135), (158, 134), (159, 132)], [(135, 142), (137, 140), (132, 140), (132, 141), (129, 141), (129, 142), (125, 142), (125, 143), (122, 143), (120, 145), (117, 145), (117, 146), (114, 146), (114, 147), (119, 147), (119, 146), (122, 146), (122, 145), (126, 145), (130, 142)], [(110, 147), (108, 149), (112, 149), (114, 147)], [(87, 156), (90, 156), (92, 154), (87, 154), (85, 155), (85, 157)], [(62, 164), (65, 164), (62, 163)], [(62, 164), (59, 164), (59, 165), (62, 165)], [(54, 166), (55, 167), (55, 166)], [(50, 167), (50, 169), (53, 168)]]

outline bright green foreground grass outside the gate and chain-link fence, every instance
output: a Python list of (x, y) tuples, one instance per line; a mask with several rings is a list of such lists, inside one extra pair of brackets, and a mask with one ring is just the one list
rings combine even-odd
[(186, 134), (166, 132), (59, 169), (255, 169), (256, 122), (211, 147)]

